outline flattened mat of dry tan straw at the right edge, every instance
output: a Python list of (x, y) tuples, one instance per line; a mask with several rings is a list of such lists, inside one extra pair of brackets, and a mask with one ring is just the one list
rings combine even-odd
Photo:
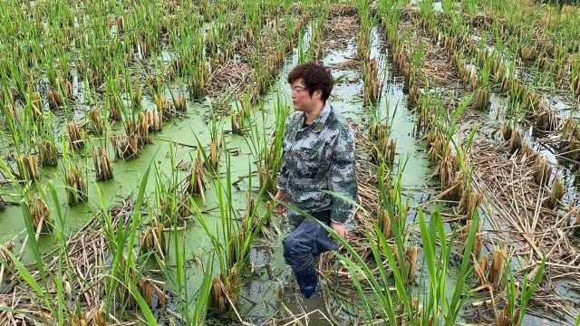
[[(476, 142), (471, 153), (476, 173), (473, 184), (488, 197), (488, 218), (497, 235), (506, 243), (515, 242), (516, 254), (527, 262), (517, 274), (534, 270), (547, 255), (546, 272), (534, 298), (532, 307), (551, 307), (557, 318), (575, 317), (574, 302), (564, 297), (553, 285), (556, 281), (580, 283), (580, 271), (575, 268), (575, 245), (568, 241), (565, 229), (574, 215), (565, 215), (542, 206), (549, 197), (536, 183), (536, 157), (515, 153), (507, 155), (492, 143)], [(505, 150), (505, 149), (504, 149)], [(553, 306), (553, 303), (559, 302)]]

